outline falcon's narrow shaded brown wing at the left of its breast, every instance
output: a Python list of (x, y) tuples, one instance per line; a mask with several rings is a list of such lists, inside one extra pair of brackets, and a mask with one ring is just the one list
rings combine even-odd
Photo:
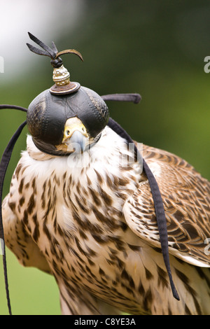
[(2, 204), (3, 231), (6, 246), (15, 253), (20, 264), (50, 273), (50, 267), (35, 242), (27, 234), (15, 214), (15, 207), (8, 194)]

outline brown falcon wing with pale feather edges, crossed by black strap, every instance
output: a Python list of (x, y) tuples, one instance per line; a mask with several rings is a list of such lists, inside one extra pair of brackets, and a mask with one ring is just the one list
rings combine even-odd
[[(158, 182), (167, 219), (169, 253), (200, 267), (210, 267), (210, 182), (185, 160), (144, 146), (143, 157)], [(141, 239), (160, 248), (158, 225), (148, 180), (123, 207), (127, 225)]]

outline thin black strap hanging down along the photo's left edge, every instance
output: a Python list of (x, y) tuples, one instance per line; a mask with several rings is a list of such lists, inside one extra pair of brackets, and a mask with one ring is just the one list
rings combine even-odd
[[(1, 109), (1, 107), (0, 107)], [(3, 194), (3, 181), (6, 175), (6, 169), (8, 167), (8, 163), (10, 161), (11, 154), (13, 152), (13, 148), (15, 146), (15, 142), (17, 141), (22, 129), (26, 125), (26, 121), (20, 125), (18, 130), (13, 134), (13, 137), (10, 139), (8, 146), (6, 146), (5, 151), (3, 152), (1, 163), (0, 163), (0, 202), (2, 204), (2, 194)], [(7, 276), (7, 267), (6, 267), (6, 248), (4, 243), (4, 234), (3, 234), (3, 221), (2, 221), (2, 209), (0, 207), (0, 237), (3, 239), (3, 272), (4, 272), (4, 281), (5, 281), (5, 288), (6, 288), (6, 298), (8, 304), (8, 311), (9, 314), (12, 314), (11, 306), (10, 306), (10, 295), (8, 290), (8, 276)]]

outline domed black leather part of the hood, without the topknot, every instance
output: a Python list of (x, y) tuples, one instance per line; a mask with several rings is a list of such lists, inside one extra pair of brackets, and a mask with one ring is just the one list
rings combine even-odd
[(34, 141), (55, 146), (62, 141), (66, 120), (74, 116), (94, 138), (108, 123), (109, 110), (102, 97), (87, 87), (61, 96), (45, 90), (29, 104), (27, 126)]

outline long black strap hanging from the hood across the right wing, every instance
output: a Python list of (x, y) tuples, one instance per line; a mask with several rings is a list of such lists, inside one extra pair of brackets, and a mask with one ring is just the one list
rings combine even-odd
[[(123, 127), (121, 127), (118, 123), (116, 123), (115, 120), (109, 118), (108, 125), (109, 125), (109, 127), (111, 127), (112, 130), (114, 130), (117, 134), (119, 134), (120, 137), (123, 137), (124, 139), (126, 139), (128, 143), (132, 143), (132, 144), (134, 143), (134, 141), (132, 140), (130, 135), (127, 134), (127, 132), (125, 132)], [(137, 146), (135, 146), (135, 145), (134, 145), (134, 151), (137, 155), (139, 155), (139, 158), (140, 157), (142, 158), (142, 156), (139, 154)], [(168, 272), (169, 281), (170, 281), (170, 284), (172, 287), (172, 293), (173, 293), (174, 297), (176, 298), (176, 300), (179, 300), (179, 295), (174, 286), (174, 281), (172, 279), (172, 272), (171, 272), (170, 263), (169, 263), (169, 246), (168, 246), (167, 221), (165, 218), (165, 209), (163, 207), (162, 197), (160, 194), (160, 190), (158, 188), (158, 183), (157, 183), (153, 173), (151, 172), (151, 169), (146, 164), (144, 158), (143, 158), (143, 169), (144, 169), (144, 172), (146, 173), (148, 182), (151, 186), (151, 192), (152, 192), (153, 200), (154, 200), (154, 204), (155, 204), (155, 214), (156, 214), (156, 218), (157, 218), (158, 230), (159, 230), (159, 235), (160, 235), (162, 256), (165, 261), (165, 266), (166, 266), (166, 269)]]

